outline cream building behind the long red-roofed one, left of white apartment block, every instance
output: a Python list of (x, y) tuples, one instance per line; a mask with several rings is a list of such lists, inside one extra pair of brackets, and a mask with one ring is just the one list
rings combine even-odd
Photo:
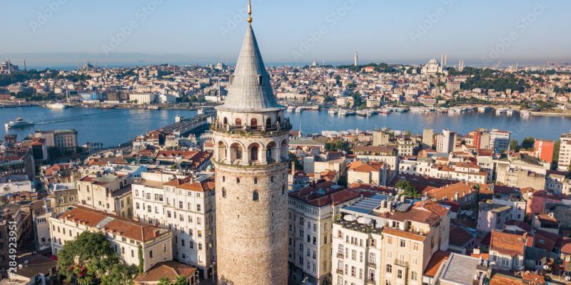
[(88, 175), (77, 182), (79, 203), (120, 217), (133, 217), (131, 185), (126, 175)]

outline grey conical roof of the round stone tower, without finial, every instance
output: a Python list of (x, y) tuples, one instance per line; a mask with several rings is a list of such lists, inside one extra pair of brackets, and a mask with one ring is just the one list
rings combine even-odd
[(270, 76), (263, 65), (262, 55), (252, 26), (248, 26), (236, 70), (230, 78), (228, 95), (220, 110), (236, 112), (265, 111), (283, 108), (273, 95)]

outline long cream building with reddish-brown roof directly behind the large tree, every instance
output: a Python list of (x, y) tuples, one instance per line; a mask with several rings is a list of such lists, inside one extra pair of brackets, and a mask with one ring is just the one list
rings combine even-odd
[(134, 222), (113, 214), (78, 206), (49, 218), (52, 254), (57, 255), (66, 242), (85, 231), (101, 232), (113, 244), (118, 257), (129, 265), (138, 265), (138, 247), (143, 251), (143, 270), (158, 262), (171, 261), (172, 233), (168, 229)]

